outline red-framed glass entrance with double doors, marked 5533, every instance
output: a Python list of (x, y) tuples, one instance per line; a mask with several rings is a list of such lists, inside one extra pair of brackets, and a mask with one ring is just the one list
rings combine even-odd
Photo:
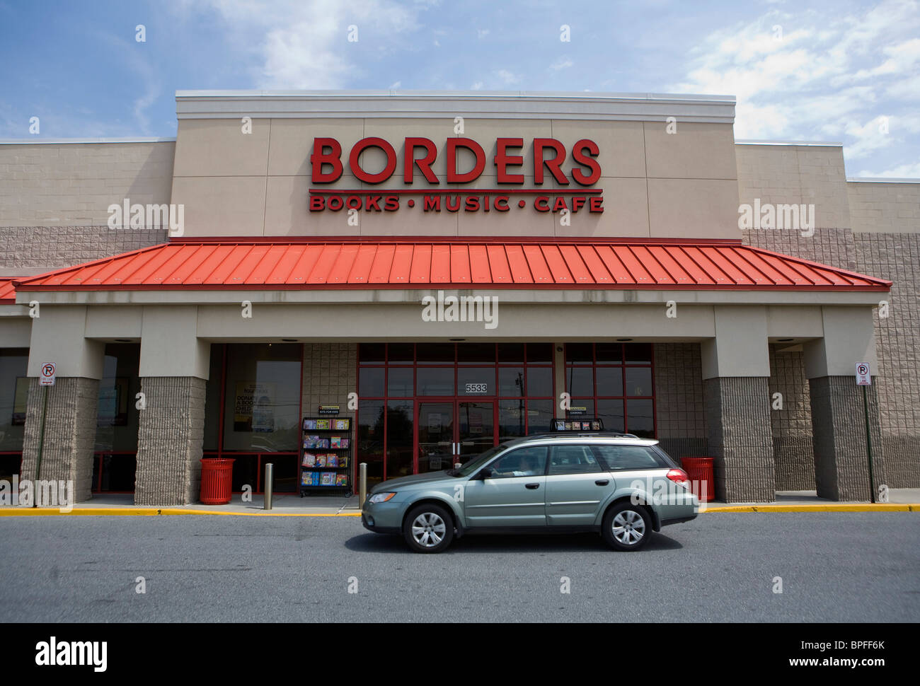
[(551, 343), (361, 343), (358, 360), (357, 459), (372, 482), (552, 427)]

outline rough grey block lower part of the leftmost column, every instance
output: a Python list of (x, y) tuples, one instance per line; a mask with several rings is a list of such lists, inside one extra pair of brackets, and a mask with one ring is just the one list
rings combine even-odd
[(29, 379), (20, 478), (73, 481), (75, 500), (89, 499), (98, 396), (98, 379), (64, 377), (48, 388), (41, 471), (37, 474), (45, 389), (37, 378)]

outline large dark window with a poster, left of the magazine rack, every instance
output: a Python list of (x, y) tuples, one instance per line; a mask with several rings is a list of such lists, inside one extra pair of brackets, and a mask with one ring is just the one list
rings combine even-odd
[(302, 346), (226, 346), (224, 451), (296, 452)]

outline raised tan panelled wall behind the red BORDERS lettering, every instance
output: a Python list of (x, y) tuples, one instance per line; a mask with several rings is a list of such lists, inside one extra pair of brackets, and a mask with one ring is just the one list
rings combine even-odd
[[(496, 188), (495, 140), (521, 137), (525, 177), (523, 188), (535, 188), (532, 140), (555, 138), (567, 146), (581, 138), (598, 144), (604, 189), (604, 213), (581, 211), (563, 226), (558, 214), (520, 210), (512, 196), (510, 212), (422, 212), (403, 200), (397, 212), (360, 212), (360, 225), (348, 223), (346, 212), (309, 212), (309, 156), (314, 137), (336, 138), (345, 160), (343, 176), (328, 189), (404, 188), (403, 139), (430, 138), (439, 154), (431, 167), (443, 179), (446, 140), (457, 137), (454, 120), (432, 119), (253, 119), (251, 133), (241, 120), (180, 119), (176, 145), (173, 201), (185, 205), (187, 236), (215, 235), (599, 235), (655, 238), (740, 238), (734, 139), (730, 124), (685, 122), (676, 133), (661, 121), (515, 120), (466, 117), (462, 134), (480, 143), (486, 153), (483, 175), (472, 188)], [(397, 172), (377, 186), (362, 184), (348, 172), (351, 146), (365, 137), (384, 138), (397, 150)], [(377, 156), (374, 156), (376, 154)], [(459, 155), (461, 169), (472, 155)], [(466, 160), (466, 162), (465, 162)], [(375, 171), (384, 155), (370, 150), (362, 166)], [(568, 173), (571, 162), (563, 165)], [(569, 188), (575, 187), (571, 184)], [(412, 189), (447, 190), (416, 174)], [(546, 180), (552, 196), (559, 188)], [(510, 187), (513, 189), (513, 187)]]

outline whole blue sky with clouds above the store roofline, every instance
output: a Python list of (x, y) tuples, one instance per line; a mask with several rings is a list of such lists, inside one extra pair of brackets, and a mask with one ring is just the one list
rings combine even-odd
[(920, 177), (915, 0), (0, 0), (0, 60), (0, 138), (174, 136), (178, 89), (701, 93), (739, 140)]

